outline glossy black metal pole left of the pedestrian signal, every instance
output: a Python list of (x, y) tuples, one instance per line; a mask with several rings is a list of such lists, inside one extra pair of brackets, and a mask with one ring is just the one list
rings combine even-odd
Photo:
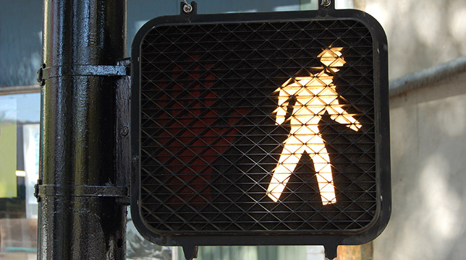
[[(115, 174), (115, 88), (126, 0), (45, 0), (38, 259), (125, 259)], [(102, 73), (101, 73), (102, 74)], [(105, 73), (103, 73), (105, 74)]]

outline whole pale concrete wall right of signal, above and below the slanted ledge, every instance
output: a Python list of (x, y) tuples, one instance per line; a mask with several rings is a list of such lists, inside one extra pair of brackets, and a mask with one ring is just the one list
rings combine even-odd
[[(355, 0), (397, 79), (466, 55), (464, 0)], [(390, 99), (393, 211), (373, 259), (466, 259), (466, 73)]]

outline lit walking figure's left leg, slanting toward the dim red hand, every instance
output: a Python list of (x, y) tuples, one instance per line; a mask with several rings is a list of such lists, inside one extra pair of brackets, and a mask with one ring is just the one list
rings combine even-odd
[(299, 163), (299, 159), (301, 159), (302, 153), (297, 153), (297, 151), (302, 146), (302, 142), (297, 140), (294, 135), (291, 135), (283, 142), (282, 154), (280, 155), (280, 159), (278, 159), (277, 166), (273, 169), (272, 179), (267, 188), (267, 196), (275, 203), (282, 195), (291, 173), (293, 173)]

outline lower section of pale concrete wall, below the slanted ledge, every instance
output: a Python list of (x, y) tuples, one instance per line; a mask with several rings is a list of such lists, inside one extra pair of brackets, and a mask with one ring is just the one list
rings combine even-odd
[(390, 100), (393, 211), (376, 260), (466, 259), (466, 72)]

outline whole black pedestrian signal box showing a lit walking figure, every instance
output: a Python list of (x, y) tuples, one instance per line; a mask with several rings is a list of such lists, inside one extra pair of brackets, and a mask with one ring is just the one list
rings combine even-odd
[[(182, 5), (183, 6), (183, 5)], [(387, 39), (335, 10), (162, 16), (132, 47), (132, 217), (152, 242), (339, 244), (390, 216)]]

